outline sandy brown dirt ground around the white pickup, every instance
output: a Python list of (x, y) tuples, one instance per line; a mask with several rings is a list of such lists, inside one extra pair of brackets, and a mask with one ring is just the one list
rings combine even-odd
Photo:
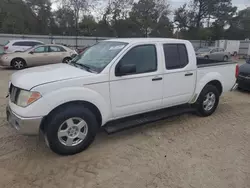
[(208, 118), (182, 115), (108, 136), (61, 157), (6, 122), (0, 68), (1, 188), (249, 188), (250, 94), (228, 93)]

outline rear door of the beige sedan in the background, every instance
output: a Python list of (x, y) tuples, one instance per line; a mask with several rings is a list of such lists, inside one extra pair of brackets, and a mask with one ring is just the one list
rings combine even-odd
[(49, 46), (49, 57), (51, 63), (62, 63), (67, 57), (67, 51), (61, 46)]

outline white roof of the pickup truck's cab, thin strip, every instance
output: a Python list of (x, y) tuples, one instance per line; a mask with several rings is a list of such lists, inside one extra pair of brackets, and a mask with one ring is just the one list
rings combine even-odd
[(115, 42), (126, 42), (126, 43), (143, 43), (143, 42), (182, 42), (186, 43), (187, 40), (181, 39), (173, 39), (173, 38), (116, 38), (109, 39), (107, 41), (115, 41)]

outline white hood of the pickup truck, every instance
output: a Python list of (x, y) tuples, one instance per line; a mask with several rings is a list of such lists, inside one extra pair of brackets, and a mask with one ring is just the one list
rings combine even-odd
[(46, 83), (89, 76), (93, 76), (93, 73), (60, 63), (18, 71), (11, 76), (11, 83), (21, 89), (30, 90)]

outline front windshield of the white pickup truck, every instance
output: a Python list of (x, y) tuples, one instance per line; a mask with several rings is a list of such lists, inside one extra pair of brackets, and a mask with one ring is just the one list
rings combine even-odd
[(71, 63), (100, 73), (126, 45), (124, 42), (100, 42), (76, 56)]

